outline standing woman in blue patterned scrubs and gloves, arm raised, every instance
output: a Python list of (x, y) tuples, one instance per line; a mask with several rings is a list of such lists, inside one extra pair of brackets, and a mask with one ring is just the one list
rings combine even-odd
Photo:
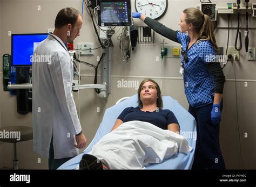
[(225, 169), (219, 145), (219, 124), (223, 107), (225, 76), (215, 62), (218, 46), (210, 17), (199, 9), (181, 13), (180, 31), (174, 31), (140, 12), (132, 17), (182, 46), (181, 73), (188, 111), (197, 121), (197, 145), (192, 169)]

